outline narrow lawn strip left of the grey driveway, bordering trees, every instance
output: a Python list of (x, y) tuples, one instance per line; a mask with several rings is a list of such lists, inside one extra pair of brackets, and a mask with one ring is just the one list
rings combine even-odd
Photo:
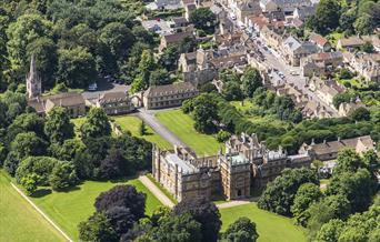
[(122, 117), (116, 117), (113, 118), (114, 122), (120, 125), (120, 128), (124, 131), (130, 131), (132, 135), (143, 138), (144, 140), (156, 143), (159, 148), (168, 150), (172, 149), (172, 145), (164, 140), (162, 137), (157, 134), (148, 124), (147, 127), (147, 134), (140, 135), (139, 133), (139, 127), (141, 123), (141, 120), (138, 117), (133, 115), (122, 115)]

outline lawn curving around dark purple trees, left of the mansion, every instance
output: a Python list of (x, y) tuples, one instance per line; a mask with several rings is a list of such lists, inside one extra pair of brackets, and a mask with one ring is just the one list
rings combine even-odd
[[(147, 194), (146, 213), (160, 206), (156, 196), (138, 180), (131, 179), (119, 182), (86, 181), (69, 192), (52, 192), (40, 190), (41, 196), (33, 198), (33, 202), (46, 212), (68, 235), (78, 241), (78, 224), (87, 220), (94, 212), (94, 200), (103, 191), (117, 184), (128, 183), (134, 185), (139, 191)], [(43, 194), (44, 193), (44, 194)], [(37, 196), (38, 194), (36, 194)], [(53, 241), (53, 240), (50, 240)]]

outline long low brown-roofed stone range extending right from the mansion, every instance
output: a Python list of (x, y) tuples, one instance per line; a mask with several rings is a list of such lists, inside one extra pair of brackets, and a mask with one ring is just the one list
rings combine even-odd
[(370, 135), (340, 139), (336, 141), (323, 141), (322, 143), (311, 144), (303, 143), (299, 150), (299, 153), (309, 153), (312, 160), (331, 161), (336, 160), (339, 151), (343, 149), (353, 149), (358, 154), (374, 150), (376, 143)]

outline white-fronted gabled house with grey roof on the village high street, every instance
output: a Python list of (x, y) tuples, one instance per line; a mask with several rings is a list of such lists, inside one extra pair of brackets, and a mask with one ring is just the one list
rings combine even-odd
[(317, 53), (317, 46), (311, 42), (300, 42), (294, 37), (289, 37), (282, 42), (282, 53), (288, 63), (293, 67), (300, 65), (301, 58)]

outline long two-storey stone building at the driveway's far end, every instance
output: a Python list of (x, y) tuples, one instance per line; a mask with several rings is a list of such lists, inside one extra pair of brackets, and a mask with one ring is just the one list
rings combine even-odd
[(179, 107), (187, 99), (198, 95), (197, 88), (190, 82), (149, 87), (143, 93), (146, 109)]

